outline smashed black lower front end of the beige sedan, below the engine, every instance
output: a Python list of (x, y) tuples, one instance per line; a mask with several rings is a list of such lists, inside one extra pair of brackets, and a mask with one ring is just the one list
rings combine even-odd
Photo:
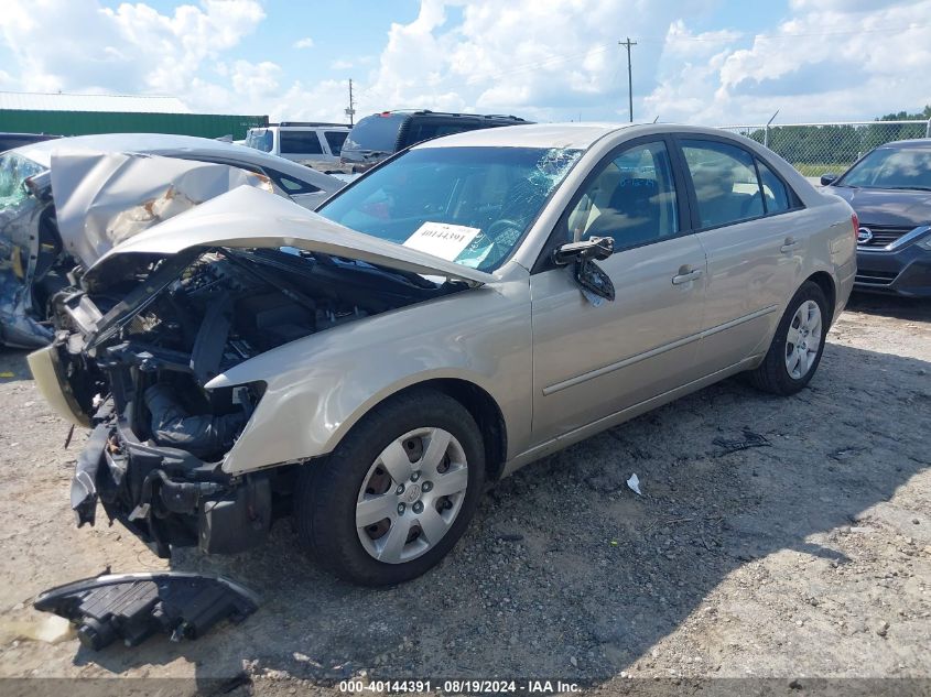
[[(163, 385), (156, 385), (159, 392)], [(95, 522), (96, 505), (107, 516), (120, 521), (153, 546), (163, 557), (172, 546), (199, 546), (212, 554), (232, 554), (262, 542), (273, 515), (282, 505), (272, 505), (283, 472), (230, 477), (223, 472), (215, 455), (198, 458), (190, 450), (170, 444), (178, 439), (184, 421), (192, 418), (171, 403), (159, 404), (153, 424), (171, 423), (165, 432), (141, 440), (125, 418), (107, 402), (98, 412), (95, 427), (78, 457), (72, 481), (72, 508), (78, 526)], [(225, 416), (235, 416), (227, 414)], [(167, 422), (165, 421), (167, 418)], [(227, 425), (213, 428), (223, 417), (198, 415), (192, 429), (182, 434), (184, 445), (197, 445), (217, 453), (231, 446)], [(228, 420), (235, 424), (236, 418)], [(245, 423), (245, 422), (241, 422)], [(241, 426), (240, 426), (241, 427)]]

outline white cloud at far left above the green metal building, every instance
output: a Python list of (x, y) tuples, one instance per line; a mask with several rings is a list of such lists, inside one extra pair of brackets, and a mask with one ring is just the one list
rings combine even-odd
[(239, 44), (264, 18), (257, 0), (202, 0), (172, 14), (98, 0), (4, 3), (3, 42), (18, 62), (15, 89), (175, 95), (202, 99), (202, 73)]

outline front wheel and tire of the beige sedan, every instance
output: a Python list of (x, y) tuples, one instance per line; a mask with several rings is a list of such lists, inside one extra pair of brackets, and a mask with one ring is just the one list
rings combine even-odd
[(301, 543), (340, 578), (390, 586), (420, 576), (456, 544), (478, 505), (485, 448), (453, 397), (416, 390), (378, 405), (320, 462), (303, 468)]

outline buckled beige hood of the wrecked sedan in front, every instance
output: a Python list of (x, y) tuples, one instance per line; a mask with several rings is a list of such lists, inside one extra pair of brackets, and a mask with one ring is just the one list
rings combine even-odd
[(294, 247), (470, 284), (496, 281), (489, 273), (357, 232), (293, 202), (248, 186), (217, 196), (122, 242), (101, 257), (86, 279), (105, 277), (106, 269), (126, 254), (170, 255), (194, 247)]

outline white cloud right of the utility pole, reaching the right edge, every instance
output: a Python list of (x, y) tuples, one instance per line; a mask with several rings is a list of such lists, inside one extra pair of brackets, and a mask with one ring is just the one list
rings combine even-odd
[[(772, 31), (694, 42), (645, 104), (663, 120), (721, 124), (872, 119), (931, 104), (931, 1), (792, 0)], [(685, 30), (684, 25), (682, 30)], [(664, 58), (680, 51), (672, 32)]]

